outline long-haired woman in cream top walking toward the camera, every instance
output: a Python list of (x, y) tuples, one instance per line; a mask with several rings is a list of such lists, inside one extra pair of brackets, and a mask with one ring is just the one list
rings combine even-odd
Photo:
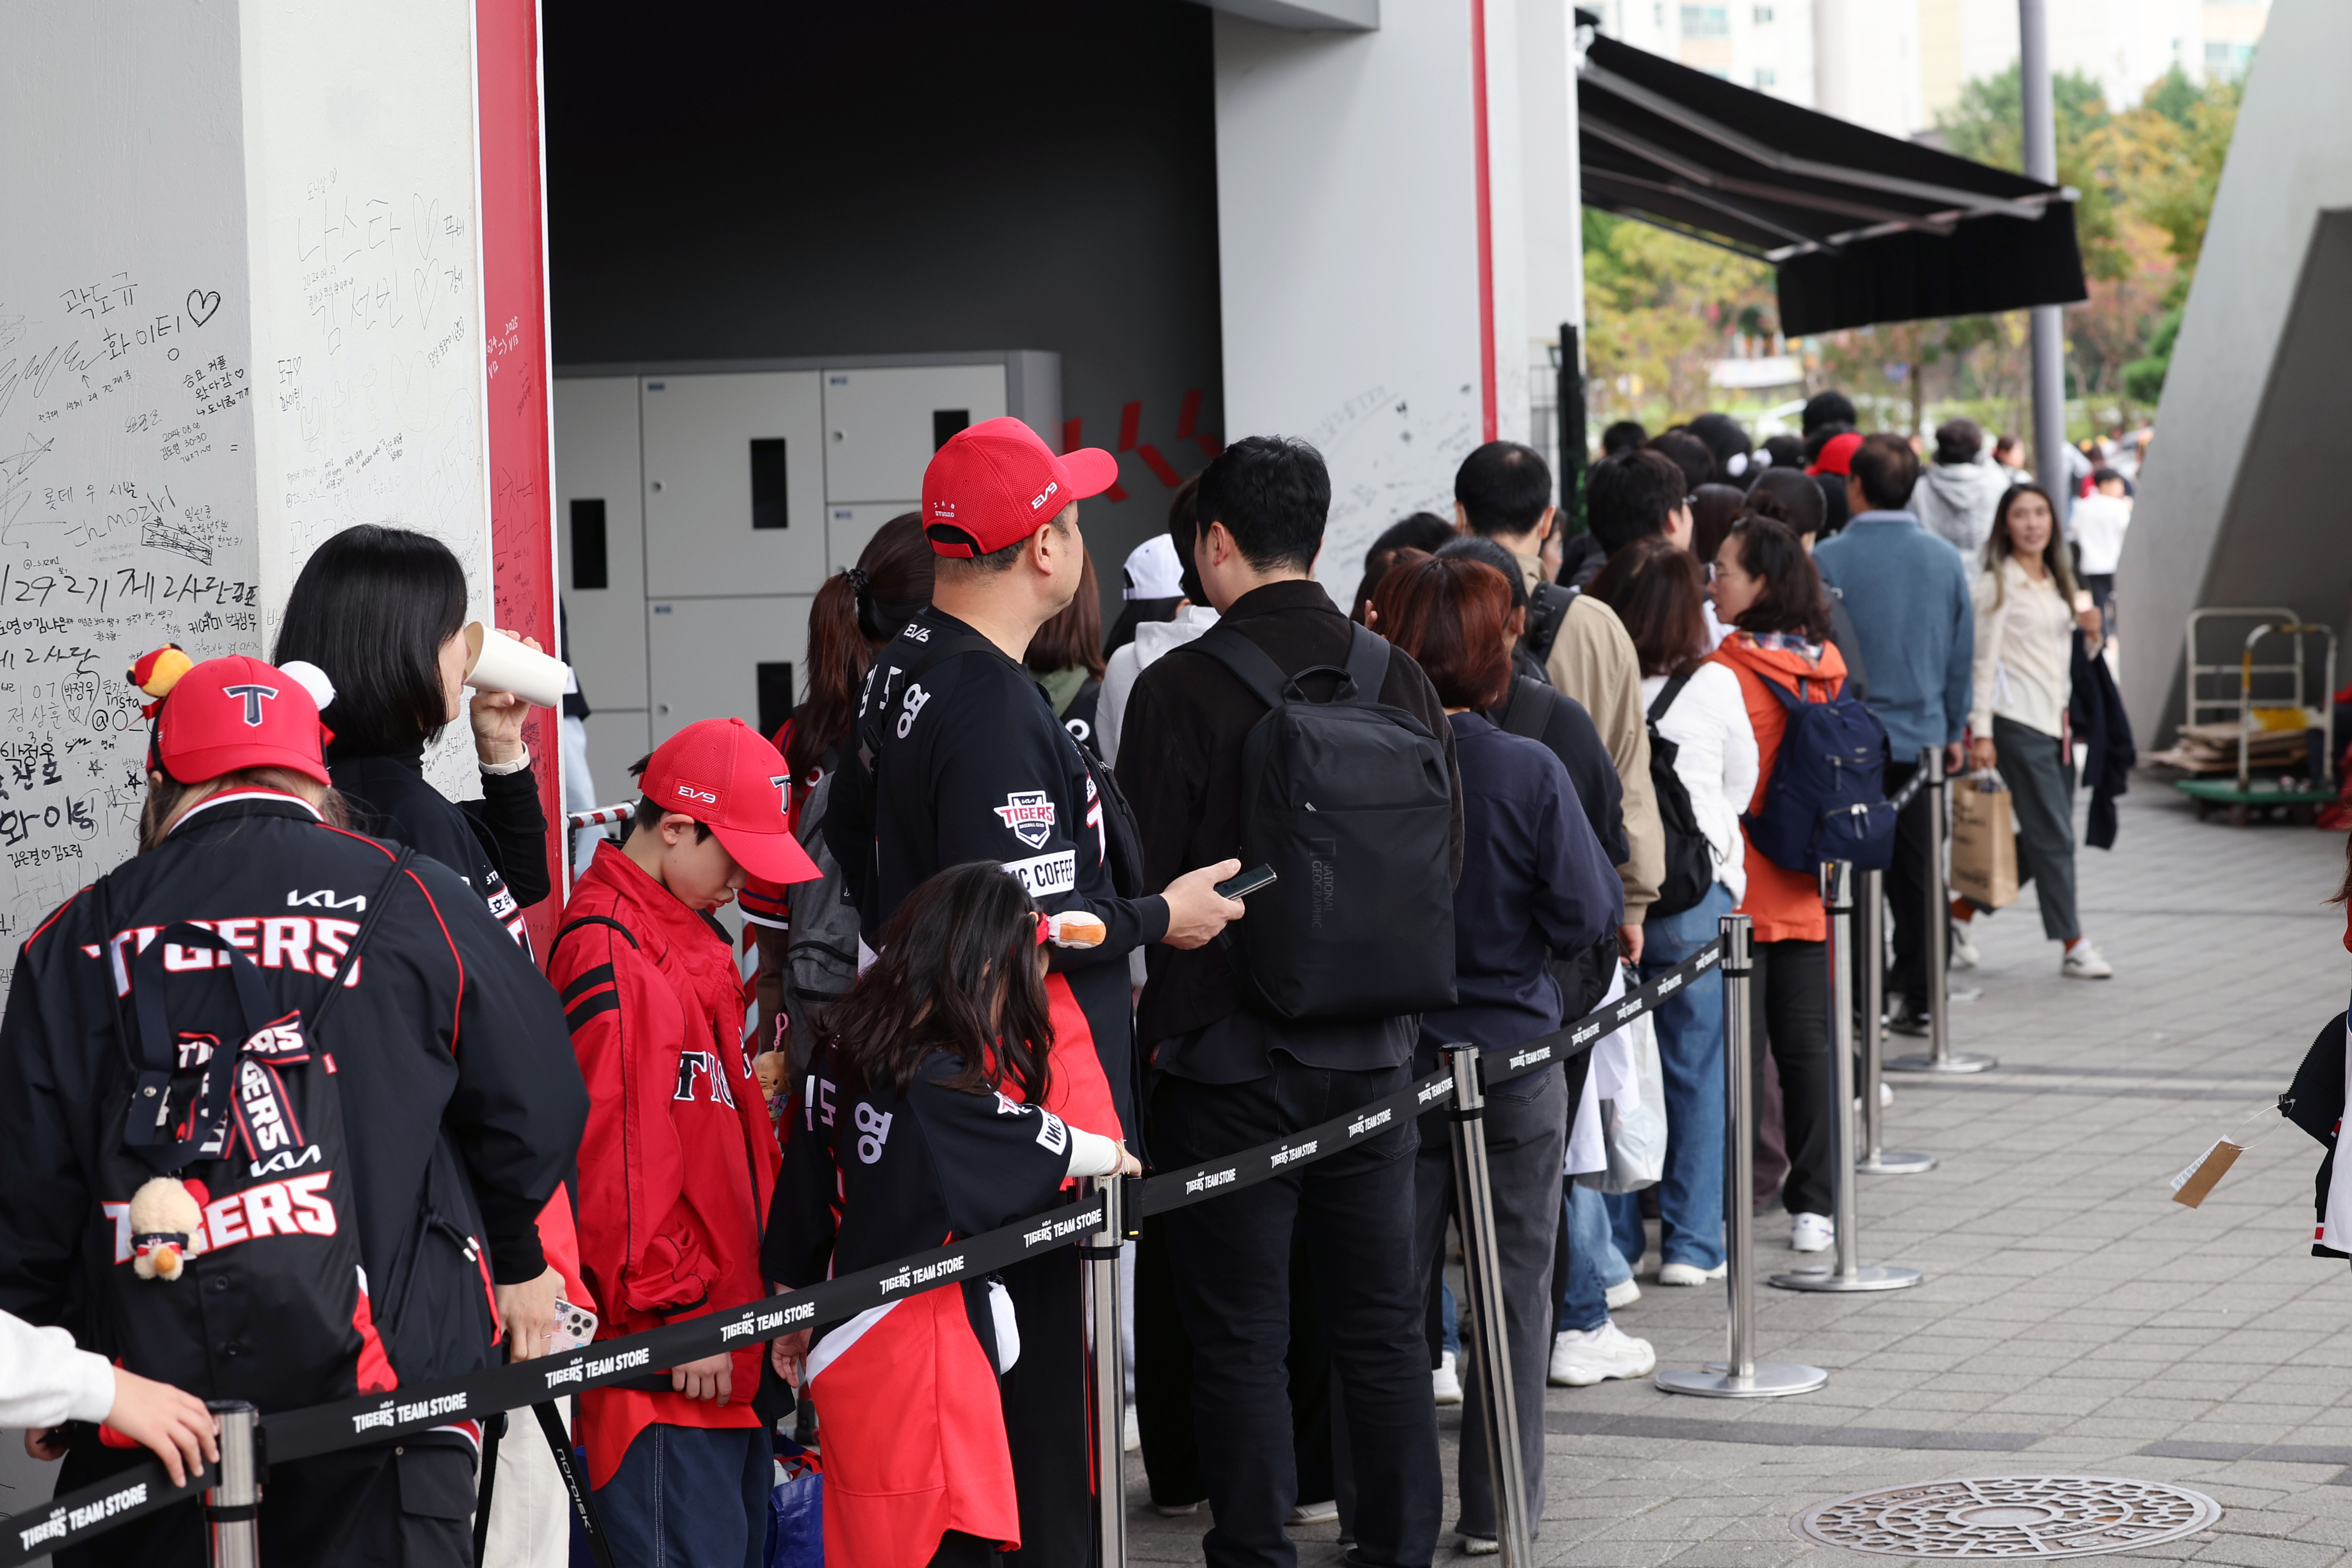
[[(2074, 910), (2074, 757), (2065, 712), (2074, 696), (2074, 630), (2096, 654), (2100, 614), (2074, 585), (2058, 534), (2058, 510), (2039, 484), (2011, 484), (1992, 510), (1983, 569), (1969, 578), (1976, 602), (1976, 696), (1969, 759), (2002, 773), (2018, 818), (2018, 877), (2032, 879), (2042, 933), (2065, 943), (2058, 973), (2107, 980), (2114, 969), (2082, 933)], [(1955, 957), (1976, 959), (1976, 907), (1952, 900)]]

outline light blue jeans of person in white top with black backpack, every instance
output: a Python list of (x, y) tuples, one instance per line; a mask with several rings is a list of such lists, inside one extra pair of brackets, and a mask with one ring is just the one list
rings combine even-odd
[[(1712, 943), (1731, 912), (1731, 889), (1708, 889), (1682, 914), (1642, 926), (1642, 983)], [(1658, 1262), (1712, 1269), (1724, 1260), (1724, 976), (1710, 969), (1653, 1013), (1665, 1077), (1665, 1175), (1658, 1180)], [(1618, 1251), (1639, 1258), (1635, 1194), (1609, 1199)]]

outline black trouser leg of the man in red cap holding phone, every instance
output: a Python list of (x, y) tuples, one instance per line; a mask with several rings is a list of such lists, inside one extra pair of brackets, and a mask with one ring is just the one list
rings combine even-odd
[(1004, 1269), (1021, 1359), (1004, 1373), (1004, 1441), (1021, 1497), (1009, 1568), (1087, 1568), (1094, 1559), (1094, 1450), (1087, 1408), (1087, 1312), (1077, 1248)]

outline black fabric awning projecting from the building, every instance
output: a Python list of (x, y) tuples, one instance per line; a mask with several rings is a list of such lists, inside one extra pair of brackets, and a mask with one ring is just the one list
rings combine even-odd
[(1771, 261), (1790, 336), (2086, 296), (2072, 190), (1613, 38), (1585, 49), (1576, 120), (1585, 205)]

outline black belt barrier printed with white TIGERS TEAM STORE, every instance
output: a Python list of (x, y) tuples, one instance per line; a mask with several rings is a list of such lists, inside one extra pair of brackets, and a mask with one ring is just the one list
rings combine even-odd
[[(1722, 943), (1708, 943), (1668, 973), (1552, 1034), (1519, 1046), (1489, 1046), (1479, 1053), (1486, 1086), (1505, 1084), (1548, 1063), (1588, 1051), (1604, 1034), (1621, 1030), (1642, 1013), (1656, 1011), (1663, 999), (1712, 969), (1719, 957)], [(1110, 1225), (1124, 1234), (1143, 1215), (1204, 1204), (1230, 1190), (1254, 1187), (1291, 1166), (1329, 1159), (1367, 1135), (1392, 1126), (1399, 1114), (1421, 1114), (1451, 1091), (1451, 1072), (1430, 1074), (1371, 1105), (1359, 1105), (1345, 1117), (1258, 1145), (1256, 1150), (1242, 1150), (1240, 1154), (1228, 1154), (1221, 1161), (1190, 1171), (1171, 1171), (1145, 1180), (1127, 1178), (1120, 1187), (1120, 1199), (1124, 1201), (1120, 1204), (1120, 1213), (1110, 1218)], [(449, 1422), (485, 1420), (501, 1410), (543, 1406), (562, 1394), (630, 1382), (722, 1349), (746, 1349), (818, 1324), (837, 1324), (868, 1307), (884, 1307), (922, 1291), (978, 1279), (1023, 1258), (1096, 1239), (1101, 1232), (1105, 1232), (1105, 1201), (1101, 1192), (1091, 1192), (1063, 1208), (1049, 1208), (983, 1237), (828, 1279), (807, 1291), (769, 1295), (743, 1307), (663, 1324), (661, 1328), (633, 1333), (621, 1340), (597, 1340), (586, 1349), (539, 1356), (536, 1361), (487, 1366), (461, 1378), (442, 1378), (395, 1394), (367, 1394), (301, 1410), (278, 1410), (275, 1415), (263, 1415), (259, 1425), (268, 1436), (270, 1460), (278, 1465), (367, 1443), (390, 1443), (433, 1427), (447, 1427)], [(1117, 1312), (1108, 1316), (1115, 1326)], [(546, 1425), (546, 1418), (541, 1418), (541, 1425)], [(560, 1429), (562, 1425), (557, 1422)], [(553, 1434), (548, 1441), (557, 1446)], [(569, 1453), (560, 1453), (557, 1465), (567, 1458)], [(586, 1488), (572, 1474), (569, 1465), (562, 1467), (574, 1507), (583, 1507), (586, 1512)], [(28, 1563), (35, 1556), (78, 1547), (94, 1535), (103, 1535), (115, 1523), (172, 1507), (174, 1502), (188, 1502), (202, 1488), (205, 1481), (200, 1476), (191, 1476), (188, 1486), (172, 1486), (158, 1460), (132, 1465), (108, 1481), (66, 1493), (47, 1507), (26, 1509), (9, 1519), (5, 1535), (0, 1535), (0, 1568), (16, 1568), (16, 1563)], [(602, 1547), (600, 1540), (595, 1544)]]

